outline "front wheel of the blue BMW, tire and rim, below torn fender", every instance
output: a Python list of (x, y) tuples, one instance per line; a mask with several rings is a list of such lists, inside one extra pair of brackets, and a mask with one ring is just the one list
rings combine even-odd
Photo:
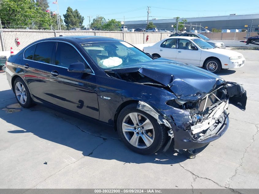
[(130, 104), (123, 108), (118, 116), (117, 129), (120, 139), (134, 152), (152, 154), (158, 151), (166, 141), (164, 125), (146, 112)]

